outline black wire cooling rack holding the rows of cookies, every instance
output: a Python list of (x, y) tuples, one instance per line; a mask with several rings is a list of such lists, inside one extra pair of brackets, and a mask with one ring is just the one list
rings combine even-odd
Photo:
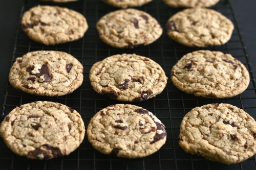
[[(41, 4), (56, 5), (54, 3), (25, 0), (20, 10), (20, 18), (24, 11)], [(141, 103), (131, 103), (141, 106), (153, 112), (166, 126), (167, 140), (163, 147), (155, 154), (140, 159), (123, 159), (113, 155), (103, 155), (93, 149), (87, 137), (84, 138), (80, 147), (69, 156), (62, 158), (39, 161), (29, 160), (17, 156), (0, 139), (0, 169), (256, 169), (255, 155), (250, 159), (232, 165), (224, 165), (218, 162), (207, 161), (200, 156), (185, 153), (178, 145), (178, 134), (183, 116), (192, 108), (209, 103), (229, 103), (244, 109), (254, 119), (256, 118), (256, 89), (248, 55), (245, 51), (236, 17), (230, 1), (221, 0), (212, 7), (231, 19), (234, 23), (234, 31), (230, 41), (221, 46), (204, 48), (212, 51), (230, 53), (240, 60), (250, 72), (250, 84), (246, 91), (238, 96), (228, 99), (204, 99), (197, 98), (192, 94), (186, 94), (178, 90), (170, 81), (170, 70), (173, 65), (185, 54), (200, 50), (201, 48), (190, 48), (178, 44), (168, 38), (165, 33), (151, 45), (139, 46), (135, 49), (116, 49), (104, 44), (98, 37), (95, 25), (97, 20), (108, 12), (116, 10), (101, 1), (80, 0), (78, 2), (58, 4), (82, 13), (88, 21), (89, 30), (84, 37), (75, 42), (60, 44), (56, 46), (45, 46), (30, 40), (19, 26), (16, 31), (11, 65), (15, 58), (37, 50), (64, 51), (76, 57), (84, 67), (84, 81), (80, 88), (73, 93), (58, 98), (38, 97), (20, 92), (14, 89), (7, 80), (6, 93), (2, 107), (1, 120), (16, 106), (34, 101), (52, 101), (65, 104), (76, 109), (82, 116), (87, 126), (91, 117), (100, 109), (111, 104), (125, 103), (109, 99), (106, 96), (94, 92), (89, 81), (91, 66), (108, 56), (122, 53), (135, 53), (149, 57), (158, 62), (169, 78), (166, 88), (156, 98)], [(166, 6), (161, 0), (154, 0), (144, 5), (140, 10), (146, 11), (154, 16), (164, 28), (170, 16), (180, 11)]]

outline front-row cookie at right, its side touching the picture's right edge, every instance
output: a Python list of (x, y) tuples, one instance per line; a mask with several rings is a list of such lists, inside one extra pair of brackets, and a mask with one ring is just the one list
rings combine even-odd
[(256, 122), (229, 104), (196, 107), (182, 120), (179, 145), (211, 161), (239, 163), (256, 154)]

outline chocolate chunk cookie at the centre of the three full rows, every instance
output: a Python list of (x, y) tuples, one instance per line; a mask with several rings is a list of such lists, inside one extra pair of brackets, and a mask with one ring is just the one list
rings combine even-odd
[(163, 91), (167, 78), (159, 64), (136, 54), (114, 55), (90, 70), (93, 89), (119, 101), (141, 102)]

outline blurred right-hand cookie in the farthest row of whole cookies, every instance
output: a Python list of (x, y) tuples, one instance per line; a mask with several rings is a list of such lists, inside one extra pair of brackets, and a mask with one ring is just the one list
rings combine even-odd
[(170, 17), (166, 23), (170, 38), (191, 47), (225, 44), (233, 29), (233, 23), (228, 18), (205, 8), (183, 10)]

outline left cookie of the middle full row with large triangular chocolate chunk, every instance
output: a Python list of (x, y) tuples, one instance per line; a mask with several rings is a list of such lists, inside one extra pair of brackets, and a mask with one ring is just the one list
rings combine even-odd
[(9, 82), (30, 94), (60, 96), (81, 86), (82, 72), (82, 64), (65, 52), (35, 51), (16, 59)]

